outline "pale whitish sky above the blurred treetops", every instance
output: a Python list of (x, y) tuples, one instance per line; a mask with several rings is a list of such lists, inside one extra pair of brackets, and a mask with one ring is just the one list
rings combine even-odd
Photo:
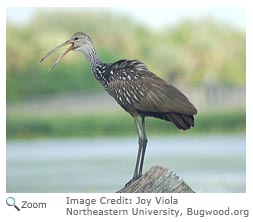
[[(17, 23), (28, 21), (38, 8), (7, 8), (7, 20)], [(55, 8), (40, 8), (44, 10), (55, 10)], [(80, 10), (80, 8), (78, 8)], [(70, 9), (71, 10), (71, 9)], [(72, 8), (75, 10), (75, 8)], [(92, 9), (90, 9), (92, 10)], [(228, 23), (240, 29), (246, 27), (246, 10), (240, 7), (202, 7), (202, 8), (106, 8), (115, 14), (126, 14), (134, 20), (145, 25), (159, 28), (163, 25), (173, 25), (185, 18), (199, 18), (202, 16), (213, 16), (221, 22)]]

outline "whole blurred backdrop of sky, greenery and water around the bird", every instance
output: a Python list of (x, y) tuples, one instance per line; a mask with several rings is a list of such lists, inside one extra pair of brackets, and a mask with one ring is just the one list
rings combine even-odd
[(245, 192), (244, 19), (240, 8), (8, 8), (7, 191), (111, 192), (130, 179), (134, 123), (82, 54), (69, 53), (50, 73), (59, 53), (39, 62), (82, 31), (101, 60), (141, 60), (198, 109), (195, 127), (184, 132), (147, 120), (155, 152), (147, 168), (172, 167), (196, 191)]

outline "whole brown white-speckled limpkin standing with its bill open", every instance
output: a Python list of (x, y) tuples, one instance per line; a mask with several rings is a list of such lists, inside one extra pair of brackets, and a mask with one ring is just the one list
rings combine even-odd
[(131, 183), (142, 175), (147, 146), (145, 117), (170, 121), (178, 129), (187, 130), (194, 126), (193, 115), (197, 114), (197, 109), (182, 92), (156, 76), (139, 60), (102, 62), (91, 38), (82, 32), (72, 35), (69, 40), (48, 52), (41, 61), (66, 45), (69, 47), (56, 60), (50, 70), (71, 50), (82, 52), (88, 60), (95, 78), (134, 118), (139, 137), (139, 149), (133, 178), (129, 182)]

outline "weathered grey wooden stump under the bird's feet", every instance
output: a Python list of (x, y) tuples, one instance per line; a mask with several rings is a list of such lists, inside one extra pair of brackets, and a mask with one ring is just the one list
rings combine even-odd
[(195, 193), (173, 171), (153, 166), (139, 179), (117, 193)]

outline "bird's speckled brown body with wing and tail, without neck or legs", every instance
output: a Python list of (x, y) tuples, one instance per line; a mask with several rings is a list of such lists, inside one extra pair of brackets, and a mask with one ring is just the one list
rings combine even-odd
[(137, 60), (120, 60), (106, 69), (108, 93), (133, 117), (151, 116), (179, 129), (194, 126), (196, 108), (177, 88), (150, 72)]

